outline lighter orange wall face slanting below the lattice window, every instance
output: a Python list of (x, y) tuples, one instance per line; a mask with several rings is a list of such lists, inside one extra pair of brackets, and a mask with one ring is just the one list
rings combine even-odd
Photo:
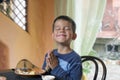
[(9, 67), (15, 67), (22, 58), (33, 59), (31, 36), (2, 13), (0, 13), (0, 41), (8, 47)]

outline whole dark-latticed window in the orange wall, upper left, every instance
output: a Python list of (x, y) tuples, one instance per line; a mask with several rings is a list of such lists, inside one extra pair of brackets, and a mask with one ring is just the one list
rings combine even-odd
[(0, 11), (10, 17), (23, 30), (27, 26), (27, 0), (2, 0)]

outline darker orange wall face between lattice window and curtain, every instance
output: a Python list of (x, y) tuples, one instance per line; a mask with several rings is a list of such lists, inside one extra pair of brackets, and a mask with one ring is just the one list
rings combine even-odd
[(28, 0), (28, 32), (32, 36), (40, 61), (48, 50), (53, 49), (51, 38), (54, 20), (54, 0)]

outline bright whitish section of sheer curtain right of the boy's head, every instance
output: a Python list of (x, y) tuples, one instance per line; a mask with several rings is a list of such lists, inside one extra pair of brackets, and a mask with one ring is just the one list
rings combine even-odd
[(74, 12), (78, 36), (74, 42), (74, 49), (81, 55), (88, 55), (92, 51), (105, 5), (106, 0), (75, 0)]

